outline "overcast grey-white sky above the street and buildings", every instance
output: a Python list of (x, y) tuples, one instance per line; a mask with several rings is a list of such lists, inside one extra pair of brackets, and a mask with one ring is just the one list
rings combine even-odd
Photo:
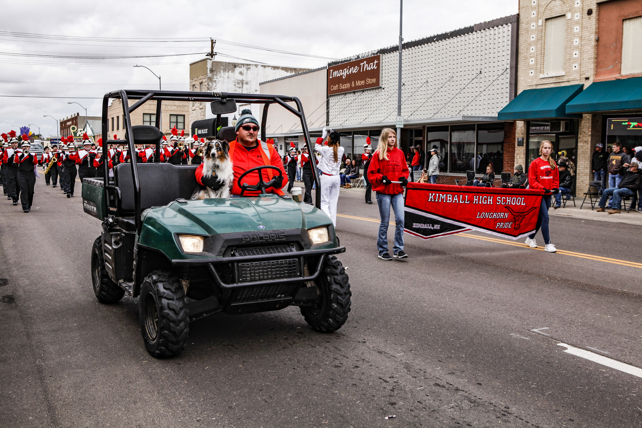
[[(404, 0), (404, 40), (421, 39), (517, 13), (517, 0)], [(101, 97), (114, 89), (189, 90), (189, 63), (203, 58), (209, 40), (145, 42), (132, 39), (224, 39), (288, 53), (343, 58), (397, 44), (399, 2), (385, 0), (120, 1), (65, 0), (3, 2), (0, 28), (0, 129), (40, 126), (55, 134), (56, 119), (76, 112), (100, 116)], [(34, 38), (27, 35), (63, 36)], [(24, 36), (25, 34), (23, 34)], [(111, 37), (130, 41), (73, 40)], [(63, 39), (63, 40), (60, 40)], [(266, 64), (323, 67), (328, 60), (218, 42), (216, 60), (229, 56)], [(55, 56), (177, 55), (158, 58), (80, 59)], [(228, 57), (222, 54), (229, 55)], [(27, 55), (27, 56), (25, 56)], [(43, 57), (42, 55), (49, 55)], [(248, 62), (248, 61), (246, 61)], [(83, 97), (96, 99), (83, 99)], [(38, 128), (31, 126), (37, 132)]]

